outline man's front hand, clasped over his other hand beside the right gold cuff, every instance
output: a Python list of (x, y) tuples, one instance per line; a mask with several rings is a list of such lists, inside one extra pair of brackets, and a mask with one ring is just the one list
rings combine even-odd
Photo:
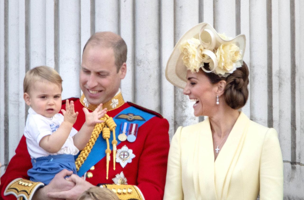
[(75, 186), (67, 191), (48, 192), (47, 196), (55, 199), (77, 200), (84, 191), (96, 187), (75, 174), (72, 174), (69, 178), (66, 178), (66, 180), (75, 184)]

